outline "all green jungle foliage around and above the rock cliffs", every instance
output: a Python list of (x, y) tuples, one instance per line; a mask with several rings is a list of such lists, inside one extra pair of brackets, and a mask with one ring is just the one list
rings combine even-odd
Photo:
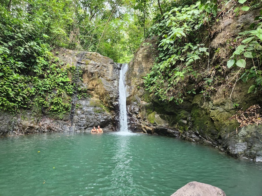
[(208, 97), (217, 85), (249, 79), (254, 84), (247, 90), (261, 91), (261, 10), (249, 29), (227, 40), (225, 55), (209, 45), (212, 25), (224, 15), (236, 18), (261, 9), (259, 0), (0, 3), (0, 110), (33, 105), (57, 114), (68, 111), (75, 66), (54, 57), (55, 48), (93, 51), (129, 62), (141, 42), (155, 35), (158, 56), (145, 85), (160, 99), (179, 104), (187, 94)]

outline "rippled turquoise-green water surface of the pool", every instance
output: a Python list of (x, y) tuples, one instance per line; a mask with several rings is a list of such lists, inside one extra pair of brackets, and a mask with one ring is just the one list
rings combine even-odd
[[(40, 152), (38, 152), (40, 151)], [(0, 138), (0, 195), (171, 195), (190, 181), (262, 195), (262, 164), (164, 136)]]

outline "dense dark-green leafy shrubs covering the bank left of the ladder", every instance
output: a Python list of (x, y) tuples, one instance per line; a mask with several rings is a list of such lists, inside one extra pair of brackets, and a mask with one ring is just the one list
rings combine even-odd
[(45, 44), (43, 21), (12, 12), (0, 6), (0, 109), (14, 111), (35, 104), (64, 113), (70, 107), (65, 95), (72, 94), (68, 69), (61, 68)]

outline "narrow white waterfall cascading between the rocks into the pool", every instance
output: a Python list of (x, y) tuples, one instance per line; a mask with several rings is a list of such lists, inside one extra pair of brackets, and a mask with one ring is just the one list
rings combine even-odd
[(127, 111), (126, 111), (126, 88), (125, 88), (125, 73), (128, 69), (128, 64), (124, 64), (121, 67), (119, 74), (119, 122), (120, 132), (129, 132), (127, 123)]

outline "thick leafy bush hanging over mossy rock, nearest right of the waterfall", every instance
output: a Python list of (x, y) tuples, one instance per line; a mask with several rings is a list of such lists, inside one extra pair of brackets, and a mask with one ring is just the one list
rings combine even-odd
[[(160, 99), (174, 100), (178, 104), (183, 102), (186, 92), (195, 93), (196, 86), (187, 91), (186, 84), (178, 86), (177, 83), (185, 77), (197, 79), (199, 73), (194, 69), (194, 64), (201, 66), (203, 60), (208, 60), (208, 48), (204, 41), (207, 39), (196, 35), (210, 26), (212, 18), (220, 11), (217, 7), (216, 1), (208, 1), (205, 5), (198, 1), (190, 6), (172, 7), (151, 28), (151, 35), (161, 38), (158, 48), (160, 54), (145, 85)], [(206, 32), (202, 34), (208, 37)]]

